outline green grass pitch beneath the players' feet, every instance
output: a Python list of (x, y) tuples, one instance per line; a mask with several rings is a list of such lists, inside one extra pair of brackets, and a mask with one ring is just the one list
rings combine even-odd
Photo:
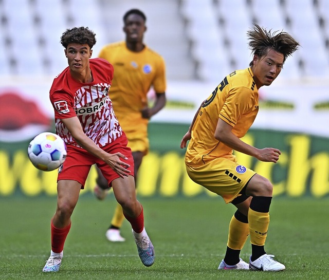
[[(50, 218), (56, 198), (0, 199), (0, 279), (329, 279), (329, 199), (274, 198), (266, 251), (285, 264), (282, 272), (218, 271), (234, 207), (221, 198), (140, 198), (156, 253), (144, 267), (130, 225), (126, 242), (106, 240), (113, 196), (80, 197), (72, 215), (58, 273), (41, 272), (50, 252)], [(249, 239), (241, 257), (248, 260)]]

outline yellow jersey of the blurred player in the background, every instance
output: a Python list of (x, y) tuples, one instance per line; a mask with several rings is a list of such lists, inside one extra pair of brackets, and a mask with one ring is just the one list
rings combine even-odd
[[(127, 49), (125, 42), (104, 46), (99, 57), (114, 66), (114, 77), (109, 90), (116, 117), (127, 137), (148, 120), (142, 119), (141, 109), (148, 104), (151, 87), (155, 92), (166, 91), (166, 69), (163, 58), (147, 46), (140, 52)], [(138, 136), (134, 136), (137, 137)]]

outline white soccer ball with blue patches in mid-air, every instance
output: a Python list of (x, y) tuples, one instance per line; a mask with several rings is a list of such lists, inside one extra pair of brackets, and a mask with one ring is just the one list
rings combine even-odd
[(36, 135), (27, 153), (33, 165), (42, 171), (57, 169), (66, 158), (66, 145), (61, 137), (51, 132)]

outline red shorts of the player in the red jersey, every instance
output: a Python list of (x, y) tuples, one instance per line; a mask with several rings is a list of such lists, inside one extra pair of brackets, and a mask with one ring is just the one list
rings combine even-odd
[[(130, 170), (131, 173), (129, 174), (134, 176), (134, 159), (131, 148), (127, 147), (127, 142), (128, 140), (125, 134), (122, 134), (121, 137), (114, 140), (114, 142), (101, 147), (101, 149), (109, 154), (121, 153), (127, 157), (127, 160), (123, 158), (120, 159), (130, 165), (130, 167), (127, 167), (126, 169)], [(57, 181), (75, 180), (81, 183), (81, 189), (83, 189), (90, 167), (95, 163), (106, 178), (109, 188), (111, 188), (112, 181), (119, 178), (120, 175), (101, 159), (89, 154), (83, 148), (73, 145), (67, 145), (67, 156), (58, 170)]]

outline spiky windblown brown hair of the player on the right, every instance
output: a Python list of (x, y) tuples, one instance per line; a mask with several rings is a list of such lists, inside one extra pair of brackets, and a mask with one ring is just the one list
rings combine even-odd
[[(252, 54), (263, 57), (271, 49), (283, 54), (283, 63), (287, 57), (293, 54), (297, 49), (299, 43), (287, 32), (271, 31), (254, 24), (253, 29), (247, 31), (247, 38), (249, 40), (249, 48)], [(252, 66), (252, 62), (250, 62)]]

